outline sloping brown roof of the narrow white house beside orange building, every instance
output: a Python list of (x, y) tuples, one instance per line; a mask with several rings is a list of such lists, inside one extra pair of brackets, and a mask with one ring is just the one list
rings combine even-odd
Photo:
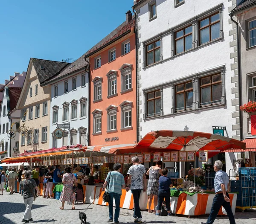
[(48, 84), (52, 81), (56, 81), (56, 80), (61, 79), (71, 73), (74, 73), (82, 68), (85, 68), (88, 65), (87, 61), (85, 61), (85, 59), (84, 59), (84, 56), (86, 54), (87, 54), (87, 52), (85, 54), (83, 54), (80, 58), (78, 58), (76, 61), (74, 61), (73, 63), (67, 65), (67, 67), (65, 67), (65, 69), (62, 70), (60, 73), (58, 73), (56, 76), (53, 76), (52, 78), (45, 81), (44, 84)]

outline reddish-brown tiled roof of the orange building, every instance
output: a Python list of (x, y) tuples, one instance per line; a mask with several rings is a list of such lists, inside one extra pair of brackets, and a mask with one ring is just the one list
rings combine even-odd
[(87, 53), (85, 53), (85, 57), (87, 58), (90, 55), (93, 55), (100, 49), (107, 47), (112, 41), (118, 39), (122, 35), (126, 34), (126, 32), (131, 31), (131, 27), (135, 25), (135, 15), (132, 16), (130, 22), (127, 20), (123, 22), (120, 26), (114, 29), (110, 34), (105, 36), (98, 44), (94, 45)]

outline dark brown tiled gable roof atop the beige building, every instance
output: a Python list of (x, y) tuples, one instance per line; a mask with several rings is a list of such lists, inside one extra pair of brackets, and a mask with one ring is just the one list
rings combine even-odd
[[(40, 85), (60, 73), (61, 70), (69, 65), (69, 63), (62, 61), (49, 61), (38, 58), (31, 58), (31, 61), (35, 67)], [(44, 69), (41, 69), (41, 66), (43, 66)]]

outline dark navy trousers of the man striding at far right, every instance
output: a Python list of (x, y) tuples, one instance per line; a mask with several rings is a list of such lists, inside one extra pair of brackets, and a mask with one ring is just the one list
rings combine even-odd
[[(228, 193), (227, 197), (229, 198)], [(236, 224), (230, 202), (225, 201), (223, 194), (216, 194), (215, 197), (213, 198), (211, 213), (206, 223), (212, 224), (214, 222), (215, 218), (218, 215), (219, 210), (221, 209), (221, 206), (223, 206), (224, 209), (226, 210), (227, 216), (230, 220), (230, 224)]]

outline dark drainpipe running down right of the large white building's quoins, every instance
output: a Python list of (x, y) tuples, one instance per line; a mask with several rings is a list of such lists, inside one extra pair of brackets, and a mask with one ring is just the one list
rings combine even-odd
[(233, 19), (233, 15), (230, 14), (230, 19), (232, 22), (236, 23), (236, 33), (237, 33), (237, 64), (238, 64), (238, 96), (239, 96), (239, 132), (240, 132), (240, 141), (244, 140), (243, 133), (243, 117), (242, 111), (240, 110), (240, 106), (242, 105), (242, 81), (241, 81), (241, 52), (240, 52), (240, 41), (239, 41), (239, 25)]

